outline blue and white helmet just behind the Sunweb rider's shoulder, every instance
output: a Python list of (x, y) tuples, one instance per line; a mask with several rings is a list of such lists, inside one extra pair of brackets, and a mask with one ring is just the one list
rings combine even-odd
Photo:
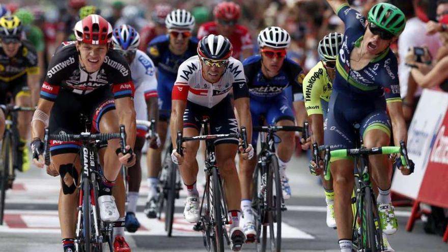
[(140, 45), (140, 35), (134, 27), (123, 24), (114, 29), (112, 43), (114, 44), (114, 49), (122, 51), (135, 50)]

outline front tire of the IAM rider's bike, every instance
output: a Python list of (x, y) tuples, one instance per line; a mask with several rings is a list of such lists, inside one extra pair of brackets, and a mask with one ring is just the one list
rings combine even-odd
[(222, 223), (222, 213), (221, 213), (221, 185), (218, 177), (217, 167), (212, 167), (212, 179), (211, 188), (213, 193), (213, 219), (214, 219), (214, 235), (216, 240), (216, 251), (224, 252), (224, 234), (223, 234), (223, 223)]

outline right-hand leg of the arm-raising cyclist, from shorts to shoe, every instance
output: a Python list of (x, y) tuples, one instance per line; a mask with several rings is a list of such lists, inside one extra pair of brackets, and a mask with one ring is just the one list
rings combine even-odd
[[(390, 143), (391, 125), (385, 110), (377, 110), (362, 122), (361, 134), (366, 148), (388, 146)], [(391, 169), (386, 155), (371, 155), (369, 162), (372, 177), (378, 186), (378, 210), (380, 212), (383, 232), (387, 235), (397, 232), (398, 223), (390, 198)]]

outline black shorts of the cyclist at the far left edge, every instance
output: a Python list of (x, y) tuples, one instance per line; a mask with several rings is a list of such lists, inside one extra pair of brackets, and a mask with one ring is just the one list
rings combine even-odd
[(31, 96), (26, 74), (9, 82), (0, 81), (0, 104), (6, 104), (19, 96)]

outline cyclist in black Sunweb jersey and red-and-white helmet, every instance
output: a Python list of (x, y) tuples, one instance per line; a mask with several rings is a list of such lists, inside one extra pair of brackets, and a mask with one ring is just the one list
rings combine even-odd
[[(101, 16), (89, 15), (78, 21), (74, 29), (76, 40), (64, 42), (51, 60), (41, 89), (41, 98), (32, 121), (33, 162), (44, 166), (43, 135), (49, 127), (50, 134), (80, 133), (83, 114), (92, 122), (92, 128), (102, 133), (118, 132), (124, 124), (127, 138), (123, 155), (118, 139), (109, 140), (104, 158), (103, 183), (99, 185), (98, 205), (103, 221), (119, 218), (111, 188), (114, 186), (121, 164), (131, 166), (135, 155), (131, 146), (135, 141), (135, 111), (132, 101), (134, 85), (129, 65), (125, 59), (109, 47), (112, 26)], [(112, 86), (112, 88), (110, 87)], [(51, 111), (51, 115), (50, 115)], [(50, 143), (52, 164), (47, 173), (61, 176), (59, 220), (64, 251), (74, 251), (77, 206), (76, 189), (80, 175), (80, 143)], [(118, 153), (118, 154), (117, 154)], [(115, 247), (126, 245), (122, 236), (116, 237)]]

